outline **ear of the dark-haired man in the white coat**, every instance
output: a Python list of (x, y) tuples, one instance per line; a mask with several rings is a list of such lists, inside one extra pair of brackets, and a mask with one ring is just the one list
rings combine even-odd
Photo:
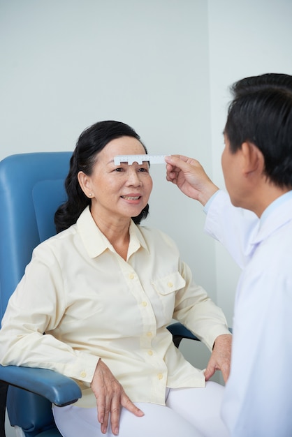
[(252, 142), (246, 141), (242, 143), (242, 172), (245, 177), (254, 177), (263, 175), (265, 168), (265, 160), (261, 150), (258, 149)]

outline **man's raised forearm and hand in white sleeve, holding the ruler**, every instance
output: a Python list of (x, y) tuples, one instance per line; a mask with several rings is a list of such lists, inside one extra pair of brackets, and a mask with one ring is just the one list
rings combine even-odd
[(243, 268), (253, 249), (251, 241), (258, 226), (256, 214), (234, 207), (228, 194), (219, 190), (196, 159), (166, 156), (166, 163), (166, 179), (204, 206), (207, 214), (204, 231), (221, 242)]

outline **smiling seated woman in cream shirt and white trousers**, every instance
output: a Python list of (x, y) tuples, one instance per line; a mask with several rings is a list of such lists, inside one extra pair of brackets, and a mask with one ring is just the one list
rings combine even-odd
[[(58, 233), (34, 250), (3, 317), (1, 364), (78, 380), (82, 399), (53, 410), (65, 437), (227, 436), (224, 387), (205, 382), (217, 369), (228, 378), (224, 314), (194, 283), (174, 242), (140, 225), (152, 191), (149, 163), (115, 165), (125, 154), (147, 154), (126, 124), (102, 121), (80, 135)], [(212, 350), (205, 373), (175, 348), (166, 328), (173, 318)]]

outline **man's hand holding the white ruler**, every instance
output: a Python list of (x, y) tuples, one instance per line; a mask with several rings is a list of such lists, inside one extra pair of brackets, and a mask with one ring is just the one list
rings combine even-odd
[(189, 198), (205, 205), (219, 189), (196, 159), (182, 155), (166, 156), (166, 179), (177, 185)]

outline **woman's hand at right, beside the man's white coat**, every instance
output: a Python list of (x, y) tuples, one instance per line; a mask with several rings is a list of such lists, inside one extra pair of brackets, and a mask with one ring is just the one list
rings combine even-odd
[(221, 370), (224, 382), (228, 380), (231, 364), (231, 334), (217, 336), (212, 354), (205, 370), (205, 379), (209, 380), (217, 370)]

